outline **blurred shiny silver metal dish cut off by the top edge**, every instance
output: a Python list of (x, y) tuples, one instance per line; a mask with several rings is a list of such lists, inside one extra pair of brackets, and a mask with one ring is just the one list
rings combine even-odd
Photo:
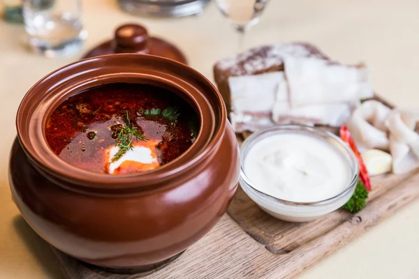
[(122, 10), (132, 14), (183, 17), (203, 13), (210, 0), (118, 0)]

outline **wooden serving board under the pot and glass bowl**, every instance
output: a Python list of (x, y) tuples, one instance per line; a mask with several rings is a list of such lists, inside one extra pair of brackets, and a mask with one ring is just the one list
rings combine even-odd
[[(241, 143), (248, 135), (237, 139)], [(419, 197), (418, 184), (419, 169), (375, 176), (365, 209), (356, 214), (338, 210), (309, 223), (273, 218), (239, 187), (228, 214), (210, 233), (168, 266), (148, 273), (108, 273), (52, 250), (72, 279), (293, 278)]]

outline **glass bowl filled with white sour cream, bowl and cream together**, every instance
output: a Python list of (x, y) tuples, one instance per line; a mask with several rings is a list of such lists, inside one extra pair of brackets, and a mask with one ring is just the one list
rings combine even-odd
[(240, 186), (281, 220), (306, 222), (335, 211), (358, 181), (353, 151), (332, 133), (310, 126), (260, 130), (241, 148)]

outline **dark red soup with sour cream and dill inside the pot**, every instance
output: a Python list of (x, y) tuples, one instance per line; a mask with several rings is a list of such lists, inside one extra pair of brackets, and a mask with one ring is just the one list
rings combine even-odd
[(45, 128), (51, 149), (93, 172), (156, 169), (193, 144), (199, 118), (185, 100), (145, 84), (105, 84), (68, 98)]

